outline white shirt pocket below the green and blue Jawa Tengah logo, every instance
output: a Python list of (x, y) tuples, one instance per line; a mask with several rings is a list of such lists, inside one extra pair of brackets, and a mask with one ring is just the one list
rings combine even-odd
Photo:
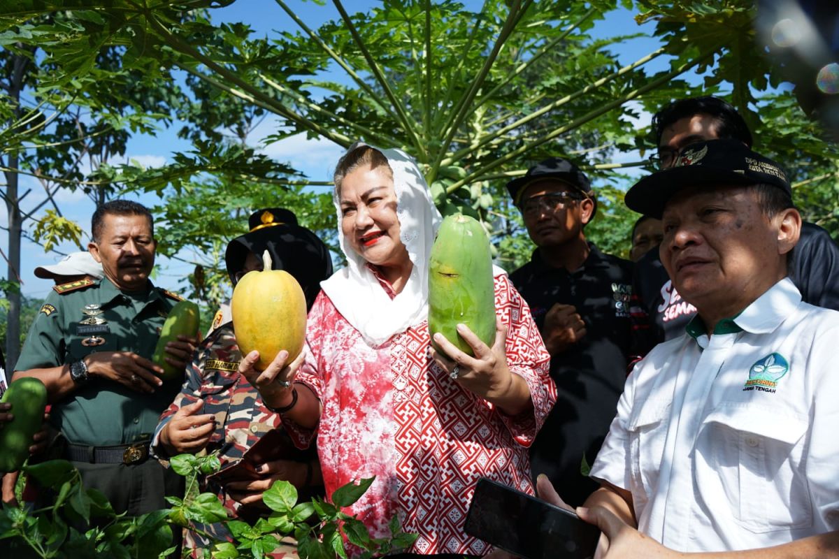
[(711, 429), (708, 463), (720, 476), (737, 520), (755, 533), (795, 530), (813, 524), (803, 466), (806, 416), (779, 408), (717, 406), (706, 417)]

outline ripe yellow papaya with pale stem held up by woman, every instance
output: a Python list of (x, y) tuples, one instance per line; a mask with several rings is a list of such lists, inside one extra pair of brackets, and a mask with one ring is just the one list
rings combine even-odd
[(288, 362), (300, 355), (306, 335), (306, 298), (300, 283), (284, 270), (271, 269), (263, 253), (263, 271), (248, 272), (233, 289), (233, 331), (242, 355), (259, 352), (257, 370), (265, 370), (281, 349)]

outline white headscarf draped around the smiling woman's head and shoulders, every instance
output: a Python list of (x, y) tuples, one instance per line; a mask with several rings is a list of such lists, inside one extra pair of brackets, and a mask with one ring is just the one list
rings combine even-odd
[[(357, 143), (350, 150), (362, 145)], [(378, 347), (393, 334), (404, 332), (428, 318), (428, 261), (431, 245), (442, 220), (440, 212), (431, 201), (425, 177), (414, 160), (399, 149), (378, 151), (388, 158), (388, 165), (393, 171), (399, 238), (414, 264), (408, 282), (396, 297), (388, 297), (367, 267), (367, 261), (352, 249), (344, 237), (340, 225), (341, 201), (335, 190), (332, 201), (338, 215), (338, 240), (341, 242), (341, 251), (347, 256), (347, 267), (320, 283), (338, 312), (373, 347)]]

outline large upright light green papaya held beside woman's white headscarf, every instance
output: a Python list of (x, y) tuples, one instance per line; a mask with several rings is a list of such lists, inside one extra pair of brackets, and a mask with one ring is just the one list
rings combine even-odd
[[(432, 339), (440, 332), (458, 349), (473, 355), (472, 346), (457, 334), (459, 323), (492, 346), (495, 290), (489, 237), (480, 222), (461, 214), (443, 220), (431, 247), (428, 329)], [(441, 351), (437, 344), (434, 347)]]

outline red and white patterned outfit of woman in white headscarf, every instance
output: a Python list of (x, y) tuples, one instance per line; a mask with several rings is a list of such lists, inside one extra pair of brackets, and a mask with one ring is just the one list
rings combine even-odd
[(317, 435), (327, 495), (376, 476), (347, 512), (376, 537), (388, 536), (388, 521), (398, 514), (404, 531), (420, 535), (411, 552), (489, 550), (463, 531), (479, 477), (534, 492), (528, 447), (556, 399), (550, 356), (506, 275), (495, 278), (495, 305), (509, 327), (508, 366), (527, 382), (534, 404), (519, 417), (493, 409), (434, 364), (427, 321), (371, 347), (326, 293), (310, 311), (296, 380), (315, 391), (323, 412), (316, 432), (287, 422), (289, 432), (303, 447)]

